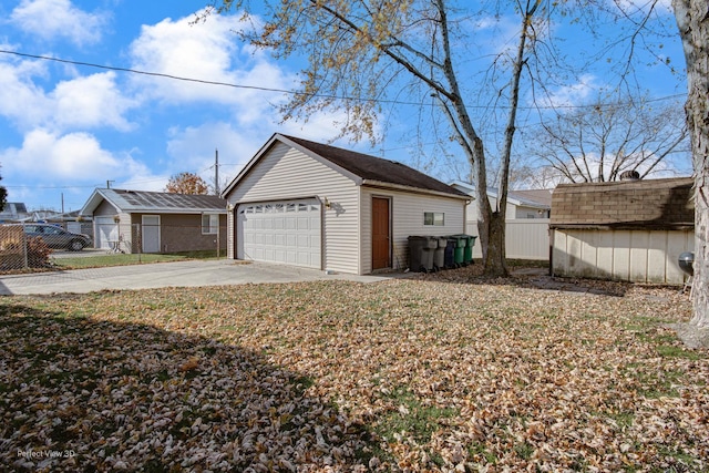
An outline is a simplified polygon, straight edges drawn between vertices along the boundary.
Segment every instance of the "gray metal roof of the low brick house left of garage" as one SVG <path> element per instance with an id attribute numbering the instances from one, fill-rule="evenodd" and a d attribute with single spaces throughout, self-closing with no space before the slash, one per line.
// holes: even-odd
<path id="1" fill-rule="evenodd" d="M 81 209 L 81 214 L 92 214 L 102 200 L 109 202 L 119 212 L 126 214 L 226 213 L 226 200 L 216 195 L 97 188 Z"/>

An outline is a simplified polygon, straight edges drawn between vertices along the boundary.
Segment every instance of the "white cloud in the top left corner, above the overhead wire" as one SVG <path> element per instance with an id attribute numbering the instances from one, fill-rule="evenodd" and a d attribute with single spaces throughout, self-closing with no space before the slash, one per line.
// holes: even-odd
<path id="1" fill-rule="evenodd" d="M 80 10 L 69 0 L 22 0 L 10 13 L 10 22 L 43 40 L 65 38 L 85 45 L 101 40 L 106 17 Z"/>

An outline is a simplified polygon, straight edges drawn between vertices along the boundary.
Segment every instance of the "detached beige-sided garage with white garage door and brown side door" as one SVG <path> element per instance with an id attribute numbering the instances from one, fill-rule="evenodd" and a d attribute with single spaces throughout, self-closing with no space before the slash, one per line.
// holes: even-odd
<path id="1" fill-rule="evenodd" d="M 275 134 L 222 194 L 229 258 L 348 274 L 408 267 L 408 237 L 461 234 L 470 199 L 403 164 Z"/>

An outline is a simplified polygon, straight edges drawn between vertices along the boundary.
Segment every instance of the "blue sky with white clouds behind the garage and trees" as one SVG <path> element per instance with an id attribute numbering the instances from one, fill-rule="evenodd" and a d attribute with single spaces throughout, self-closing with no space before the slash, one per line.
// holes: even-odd
<path id="1" fill-rule="evenodd" d="M 0 3 L 0 50 L 83 63 L 274 90 L 292 90 L 298 64 L 276 62 L 253 51 L 234 34 L 234 17 L 212 17 L 191 24 L 204 1 L 4 0 Z M 516 23 L 494 19 L 490 40 L 476 54 L 514 43 Z M 479 24 L 479 27 L 482 24 Z M 481 29 L 484 29 L 481 27 Z M 561 28 L 559 28 L 561 29 Z M 565 48 L 580 54 L 587 41 Z M 608 50 L 623 54 L 623 49 Z M 681 65 L 677 35 L 664 39 L 662 54 Z M 685 93 L 684 75 L 669 74 L 657 58 L 641 58 L 639 75 L 651 96 Z M 480 71 L 485 66 L 466 64 Z M 471 73 L 471 76 L 474 76 Z M 600 69 L 554 86 L 557 103 L 580 103 L 603 88 Z M 308 123 L 280 123 L 274 104 L 281 93 L 175 81 L 144 74 L 0 53 L 0 175 L 10 202 L 29 208 L 79 209 L 95 187 L 162 191 L 171 175 L 193 172 L 210 181 L 215 150 L 220 181 L 236 175 L 275 132 L 326 142 L 337 135 L 337 113 Z M 345 147 L 430 171 L 450 179 L 450 168 L 427 167 L 432 151 L 410 147 L 411 111 L 384 109 L 380 126 L 388 135 L 368 143 L 336 142 Z M 492 119 L 486 119 L 492 120 Z M 530 116 L 522 114 L 522 120 Z M 526 126 L 533 126 L 527 123 Z M 420 130 L 420 128 L 419 128 Z M 423 133 L 422 133 L 423 134 Z M 436 138 L 417 136 L 430 143 Z M 449 160 L 453 166 L 464 167 Z M 455 164 L 458 163 L 458 164 Z M 458 173 L 460 174 L 460 173 Z"/>

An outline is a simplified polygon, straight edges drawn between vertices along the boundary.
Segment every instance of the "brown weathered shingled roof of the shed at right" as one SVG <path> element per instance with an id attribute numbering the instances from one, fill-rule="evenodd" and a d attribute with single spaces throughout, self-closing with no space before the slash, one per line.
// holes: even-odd
<path id="1" fill-rule="evenodd" d="M 685 229 L 695 226 L 693 179 L 562 184 L 552 194 L 552 228 Z"/>

